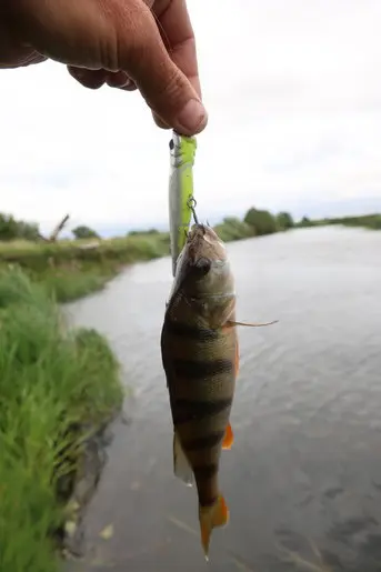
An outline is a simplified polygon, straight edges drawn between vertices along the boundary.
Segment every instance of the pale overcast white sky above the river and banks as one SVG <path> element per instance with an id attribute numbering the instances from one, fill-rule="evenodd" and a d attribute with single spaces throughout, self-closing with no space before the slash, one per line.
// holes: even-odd
<path id="1" fill-rule="evenodd" d="M 200 218 L 381 211 L 381 2 L 189 0 L 209 124 Z M 0 71 L 0 211 L 49 231 L 168 225 L 170 132 L 64 66 Z"/>

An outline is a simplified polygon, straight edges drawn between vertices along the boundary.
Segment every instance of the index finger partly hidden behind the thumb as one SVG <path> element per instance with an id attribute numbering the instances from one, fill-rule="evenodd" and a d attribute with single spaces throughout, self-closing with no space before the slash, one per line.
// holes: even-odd
<path id="1" fill-rule="evenodd" d="M 157 0 L 152 11 L 173 63 L 189 79 L 201 99 L 194 32 L 186 0 Z"/>

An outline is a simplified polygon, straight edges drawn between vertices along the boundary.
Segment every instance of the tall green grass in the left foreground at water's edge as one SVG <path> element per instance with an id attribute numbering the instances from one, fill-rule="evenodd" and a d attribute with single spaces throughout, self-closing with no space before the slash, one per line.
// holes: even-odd
<path id="1" fill-rule="evenodd" d="M 56 572 L 86 427 L 122 400 L 119 364 L 93 330 L 68 331 L 52 298 L 19 269 L 0 272 L 0 570 Z"/>

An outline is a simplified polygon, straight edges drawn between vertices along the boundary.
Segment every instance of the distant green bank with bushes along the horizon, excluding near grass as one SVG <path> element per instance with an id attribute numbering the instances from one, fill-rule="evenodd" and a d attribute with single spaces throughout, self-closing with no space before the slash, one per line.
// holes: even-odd
<path id="1" fill-rule="evenodd" d="M 73 239 L 58 239 L 69 215 L 46 239 L 38 224 L 0 213 L 0 269 L 21 268 L 58 302 L 69 302 L 101 290 L 126 265 L 169 255 L 168 232 L 131 231 L 124 237 L 101 239 L 89 227 L 73 229 Z M 290 213 L 250 209 L 244 218 L 228 217 L 214 230 L 223 242 L 323 225 L 363 227 L 381 230 L 381 214 L 294 221 Z"/>

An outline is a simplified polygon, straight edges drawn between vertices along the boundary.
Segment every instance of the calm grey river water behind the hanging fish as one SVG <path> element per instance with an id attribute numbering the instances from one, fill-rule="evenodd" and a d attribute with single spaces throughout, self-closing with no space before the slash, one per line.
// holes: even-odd
<path id="1" fill-rule="evenodd" d="M 68 308 L 108 335 L 133 389 L 71 571 L 381 570 L 381 232 L 308 229 L 228 249 L 238 319 L 279 320 L 239 332 L 234 443 L 220 468 L 230 523 L 207 564 L 195 491 L 172 473 L 159 348 L 171 267 L 136 264 Z"/>

